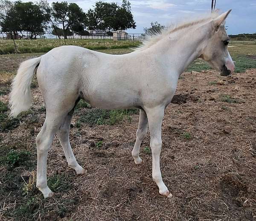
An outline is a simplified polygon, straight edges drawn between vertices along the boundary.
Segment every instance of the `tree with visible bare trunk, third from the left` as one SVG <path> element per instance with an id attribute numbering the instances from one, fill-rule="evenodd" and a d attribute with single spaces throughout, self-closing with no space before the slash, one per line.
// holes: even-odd
<path id="1" fill-rule="evenodd" d="M 62 25 L 64 38 L 67 38 L 66 29 L 73 31 L 84 30 L 86 26 L 86 15 L 76 3 L 53 2 L 52 3 L 52 22 L 53 28 L 56 29 L 59 24 Z M 80 26 L 80 27 L 79 27 Z"/>

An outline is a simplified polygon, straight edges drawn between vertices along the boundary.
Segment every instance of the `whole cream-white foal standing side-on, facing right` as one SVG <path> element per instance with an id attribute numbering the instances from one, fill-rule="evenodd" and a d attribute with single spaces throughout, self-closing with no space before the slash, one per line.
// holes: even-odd
<path id="1" fill-rule="evenodd" d="M 27 110 L 30 84 L 37 69 L 38 84 L 46 106 L 46 119 L 36 137 L 37 184 L 44 197 L 47 186 L 47 155 L 57 133 L 68 165 L 77 174 L 85 170 L 76 161 L 69 142 L 70 122 L 79 99 L 98 108 L 139 108 L 137 138 L 131 155 L 141 164 L 139 151 L 147 128 L 150 130 L 152 177 L 161 195 L 172 194 L 160 172 L 161 125 L 164 110 L 172 100 L 180 74 L 201 57 L 221 75 L 234 71 L 227 50 L 229 37 L 224 21 L 231 10 L 204 16 L 156 34 L 130 54 L 110 55 L 76 46 L 54 48 L 41 57 L 21 63 L 12 82 L 11 115 Z"/>

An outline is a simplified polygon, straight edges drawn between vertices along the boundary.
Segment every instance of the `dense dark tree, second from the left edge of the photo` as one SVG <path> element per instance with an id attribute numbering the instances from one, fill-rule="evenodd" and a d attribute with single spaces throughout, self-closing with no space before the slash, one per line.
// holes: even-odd
<path id="1" fill-rule="evenodd" d="M 44 29 L 47 28 L 49 23 L 50 14 L 44 11 L 40 4 L 16 1 L 14 6 L 19 19 L 20 30 L 26 31 L 30 39 L 44 33 Z"/>

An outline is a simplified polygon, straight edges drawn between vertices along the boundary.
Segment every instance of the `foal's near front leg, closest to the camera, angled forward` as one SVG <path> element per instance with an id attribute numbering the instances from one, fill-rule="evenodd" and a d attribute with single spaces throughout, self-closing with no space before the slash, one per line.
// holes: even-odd
<path id="1" fill-rule="evenodd" d="M 156 182 L 161 195 L 172 197 L 166 185 L 163 183 L 160 171 L 160 152 L 162 147 L 161 126 L 164 107 L 150 108 L 146 110 L 150 130 L 150 147 L 152 151 L 152 177 Z"/>

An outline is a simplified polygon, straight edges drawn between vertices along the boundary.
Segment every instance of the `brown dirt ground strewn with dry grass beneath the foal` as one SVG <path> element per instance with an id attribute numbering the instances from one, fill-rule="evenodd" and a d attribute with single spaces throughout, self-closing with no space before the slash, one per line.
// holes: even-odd
<path id="1" fill-rule="evenodd" d="M 0 86 L 8 91 L 10 76 Z M 115 125 L 77 127 L 93 108 L 78 108 L 70 143 L 83 176 L 67 167 L 58 138 L 49 151 L 47 176 L 54 198 L 35 188 L 35 137 L 45 118 L 39 88 L 32 111 L 0 132 L 1 154 L 26 150 L 26 162 L 0 164 L 0 220 L 41 221 L 253 221 L 256 220 L 256 69 L 221 77 L 186 72 L 178 82 L 162 127 L 161 170 L 172 198 L 151 178 L 149 132 L 135 165 L 131 150 L 138 114 Z M 7 103 L 8 93 L 0 100 Z M 94 109 L 93 109 L 94 110 Z"/>

